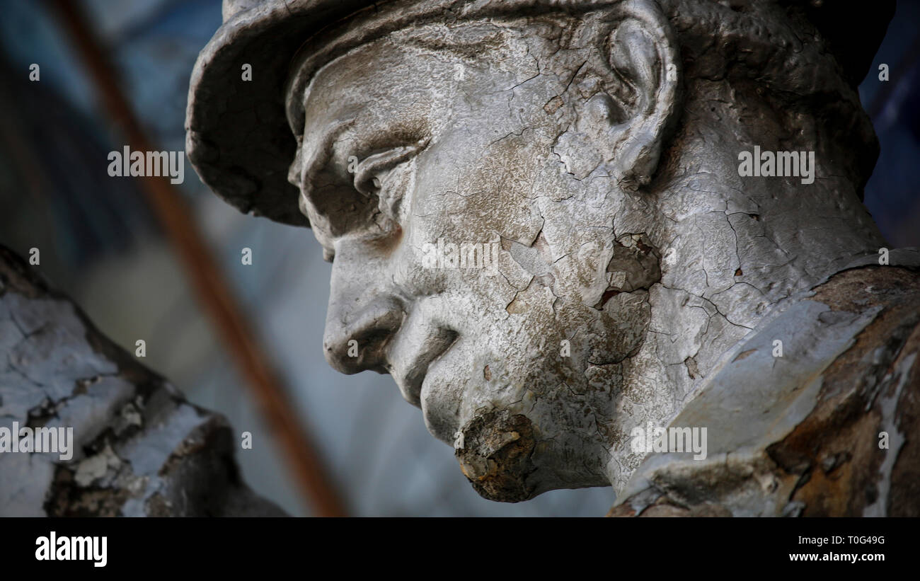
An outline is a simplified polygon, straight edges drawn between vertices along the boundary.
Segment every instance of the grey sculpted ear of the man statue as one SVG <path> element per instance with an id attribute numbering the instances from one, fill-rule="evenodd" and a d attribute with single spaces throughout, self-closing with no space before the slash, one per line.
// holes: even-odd
<path id="1" fill-rule="evenodd" d="M 655 0 L 627 0 L 595 29 L 606 90 L 588 108 L 604 131 L 595 147 L 621 187 L 650 183 L 679 112 L 680 61 L 673 29 Z M 606 63 L 603 62 L 604 58 Z"/>

